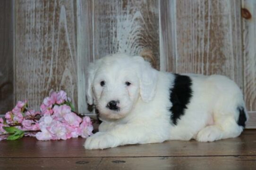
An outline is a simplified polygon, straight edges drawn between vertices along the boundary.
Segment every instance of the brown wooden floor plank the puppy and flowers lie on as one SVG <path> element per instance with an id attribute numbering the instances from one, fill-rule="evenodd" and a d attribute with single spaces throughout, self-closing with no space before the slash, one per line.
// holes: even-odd
<path id="1" fill-rule="evenodd" d="M 85 139 L 38 141 L 22 138 L 0 141 L 0 158 L 47 157 L 141 157 L 141 156 L 256 156 L 256 130 L 245 130 L 238 138 L 210 143 L 166 141 L 158 144 L 120 146 L 104 150 L 85 150 Z"/>

